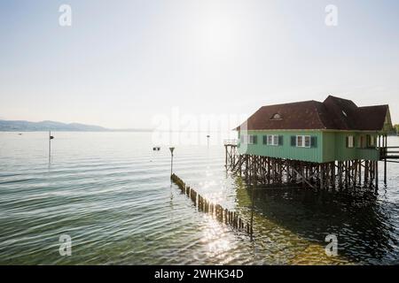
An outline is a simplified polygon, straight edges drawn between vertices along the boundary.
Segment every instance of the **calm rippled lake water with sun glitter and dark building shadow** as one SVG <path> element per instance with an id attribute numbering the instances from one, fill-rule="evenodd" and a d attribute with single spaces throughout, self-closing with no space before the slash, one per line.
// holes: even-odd
<path id="1" fill-rule="evenodd" d="M 399 164 L 378 195 L 256 191 L 250 241 L 170 184 L 170 153 L 153 151 L 152 134 L 54 135 L 49 164 L 47 133 L 0 133 L 0 264 L 399 264 Z M 176 146 L 174 172 L 249 219 L 250 191 L 225 171 L 223 150 Z M 59 255 L 61 234 L 72 256 Z"/>

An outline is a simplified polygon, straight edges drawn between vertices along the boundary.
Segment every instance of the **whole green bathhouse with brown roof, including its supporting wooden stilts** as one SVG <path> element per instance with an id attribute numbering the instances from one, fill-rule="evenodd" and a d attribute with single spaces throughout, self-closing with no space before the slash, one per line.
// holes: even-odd
<path id="1" fill-rule="evenodd" d="M 226 145 L 226 165 L 267 183 L 297 181 L 321 187 L 375 181 L 393 132 L 388 105 L 359 107 L 328 96 L 263 106 L 238 126 Z"/>

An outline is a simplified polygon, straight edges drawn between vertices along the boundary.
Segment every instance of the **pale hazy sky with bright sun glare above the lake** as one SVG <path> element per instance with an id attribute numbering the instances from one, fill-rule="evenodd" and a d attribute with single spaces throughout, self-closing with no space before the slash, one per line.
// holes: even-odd
<path id="1" fill-rule="evenodd" d="M 251 114 L 334 94 L 389 103 L 399 122 L 398 12 L 395 0 L 2 0 L 0 119 L 150 127 L 173 107 Z"/>

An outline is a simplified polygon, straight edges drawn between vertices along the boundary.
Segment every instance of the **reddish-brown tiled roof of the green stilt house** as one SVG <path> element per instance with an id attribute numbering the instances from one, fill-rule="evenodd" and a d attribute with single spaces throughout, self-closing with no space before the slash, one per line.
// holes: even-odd
<path id="1" fill-rule="evenodd" d="M 237 127 L 247 130 L 370 130 L 384 126 L 388 105 L 357 107 L 351 100 L 328 96 L 323 103 L 311 100 L 263 106 Z M 274 119 L 279 114 L 281 119 Z"/>

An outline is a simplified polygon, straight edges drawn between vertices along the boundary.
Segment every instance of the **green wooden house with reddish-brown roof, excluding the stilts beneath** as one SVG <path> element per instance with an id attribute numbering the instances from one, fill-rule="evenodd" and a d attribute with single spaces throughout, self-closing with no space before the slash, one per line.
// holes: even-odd
<path id="1" fill-rule="evenodd" d="M 328 96 L 323 103 L 263 106 L 237 130 L 240 154 L 327 163 L 379 160 L 393 126 L 388 105 L 357 107 Z"/>

